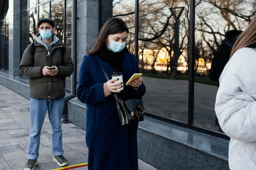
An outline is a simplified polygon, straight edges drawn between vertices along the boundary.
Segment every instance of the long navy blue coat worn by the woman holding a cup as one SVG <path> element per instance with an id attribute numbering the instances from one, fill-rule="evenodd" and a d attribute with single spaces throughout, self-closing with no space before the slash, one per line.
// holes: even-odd
<path id="1" fill-rule="evenodd" d="M 134 73 L 139 73 L 135 55 L 125 53 L 122 64 L 124 90 L 117 95 L 124 100 L 141 98 L 146 92 L 143 83 L 137 92 L 125 85 Z M 114 69 L 98 56 L 85 55 L 79 71 L 77 97 L 87 104 L 88 170 L 138 170 L 138 124 L 121 126 L 114 96 L 104 97 L 107 80 L 101 67 L 111 79 Z"/>

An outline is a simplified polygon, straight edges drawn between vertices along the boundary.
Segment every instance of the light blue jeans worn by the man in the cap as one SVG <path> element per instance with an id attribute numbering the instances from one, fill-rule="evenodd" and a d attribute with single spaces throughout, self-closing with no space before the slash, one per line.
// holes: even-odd
<path id="1" fill-rule="evenodd" d="M 30 98 L 30 134 L 27 158 L 37 159 L 39 155 L 40 135 L 48 110 L 49 120 L 52 125 L 52 154 L 63 155 L 61 115 L 63 112 L 64 97 L 57 99 Z"/>

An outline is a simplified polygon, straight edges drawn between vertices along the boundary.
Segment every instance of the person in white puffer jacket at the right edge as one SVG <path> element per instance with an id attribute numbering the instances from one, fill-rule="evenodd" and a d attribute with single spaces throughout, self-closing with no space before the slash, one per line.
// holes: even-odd
<path id="1" fill-rule="evenodd" d="M 256 170 L 256 17 L 236 40 L 220 75 L 215 111 L 229 136 L 230 170 Z"/>

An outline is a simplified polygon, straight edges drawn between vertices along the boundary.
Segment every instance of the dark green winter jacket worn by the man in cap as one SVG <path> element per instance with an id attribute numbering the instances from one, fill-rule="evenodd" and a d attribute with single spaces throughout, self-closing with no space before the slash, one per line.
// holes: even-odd
<path id="1" fill-rule="evenodd" d="M 35 99 L 55 99 L 65 97 L 65 77 L 69 77 L 74 65 L 67 47 L 58 40 L 47 51 L 45 46 L 35 41 L 34 59 L 31 54 L 31 44 L 25 49 L 20 62 L 20 73 L 29 78 L 30 97 Z M 65 46 L 65 54 L 61 55 L 61 47 Z M 57 66 L 58 75 L 44 76 L 44 66 Z"/>

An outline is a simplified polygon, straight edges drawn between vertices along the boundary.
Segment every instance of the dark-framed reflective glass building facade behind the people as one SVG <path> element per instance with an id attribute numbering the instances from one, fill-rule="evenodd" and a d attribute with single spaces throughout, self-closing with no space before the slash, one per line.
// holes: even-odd
<path id="1" fill-rule="evenodd" d="M 35 40 L 37 22 L 41 18 L 55 21 L 58 38 L 65 43 L 70 54 L 78 53 L 79 57 L 86 54 L 86 50 L 79 53 L 81 49 L 72 49 L 73 0 L 16 2 L 20 2 L 20 20 L 14 21 L 20 24 L 20 51 L 17 52 L 20 58 L 27 45 Z M 1 3 L 0 71 L 8 73 L 9 18 L 12 15 L 8 12 L 9 0 Z M 245 29 L 256 4 L 249 0 L 225 3 L 226 6 L 217 1 L 213 4 L 211 1 L 186 0 L 103 0 L 97 9 L 91 10 L 90 13 L 98 15 L 98 18 L 89 18 L 99 23 L 96 31 L 112 16 L 122 18 L 128 25 L 127 47 L 137 55 L 144 82 L 152 87 L 147 88 L 144 96 L 146 115 L 227 138 L 216 120 L 214 104 L 218 83 L 210 80 L 209 69 L 213 53 L 225 38 L 225 33 L 231 29 Z M 230 10 L 224 11 L 223 5 Z M 84 8 L 84 13 L 93 7 Z M 236 14 L 246 17 L 239 18 Z M 194 27 L 191 27 L 192 20 L 195 21 Z M 83 27 L 76 28 L 76 31 L 83 31 Z M 78 40 L 85 45 L 86 41 L 89 40 Z M 77 66 L 76 73 L 79 62 Z M 72 83 L 76 86 L 76 82 L 67 77 L 67 92 L 71 91 Z"/>

